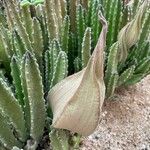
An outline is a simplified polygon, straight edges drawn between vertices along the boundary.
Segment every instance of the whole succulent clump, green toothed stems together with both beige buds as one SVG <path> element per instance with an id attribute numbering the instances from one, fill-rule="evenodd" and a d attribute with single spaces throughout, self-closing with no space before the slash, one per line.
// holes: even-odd
<path id="1" fill-rule="evenodd" d="M 42 149 L 48 134 L 54 150 L 77 148 L 104 98 L 150 73 L 148 0 L 2 4 L 0 149 Z"/>

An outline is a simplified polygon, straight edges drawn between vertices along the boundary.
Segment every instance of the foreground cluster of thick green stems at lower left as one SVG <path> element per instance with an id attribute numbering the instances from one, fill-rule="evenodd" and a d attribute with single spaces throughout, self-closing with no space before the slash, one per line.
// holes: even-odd
<path id="1" fill-rule="evenodd" d="M 21 60 L 13 56 L 10 65 L 15 89 L 5 77 L 0 79 L 0 141 L 6 148 L 12 149 L 13 146 L 21 148 L 31 138 L 36 147 L 43 136 L 46 121 L 38 64 L 34 56 L 26 52 Z"/>

